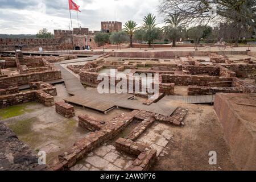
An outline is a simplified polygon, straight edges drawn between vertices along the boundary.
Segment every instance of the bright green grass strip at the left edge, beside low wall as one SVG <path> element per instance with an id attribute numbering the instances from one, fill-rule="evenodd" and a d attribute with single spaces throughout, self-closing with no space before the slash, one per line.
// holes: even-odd
<path id="1" fill-rule="evenodd" d="M 26 109 L 29 105 L 35 105 L 35 103 L 26 103 L 26 104 L 19 104 L 14 106 L 9 106 L 3 109 L 0 109 L 0 118 L 1 119 L 7 119 L 12 118 L 18 115 L 22 115 L 24 113 L 30 113 L 33 111 L 33 109 Z"/>

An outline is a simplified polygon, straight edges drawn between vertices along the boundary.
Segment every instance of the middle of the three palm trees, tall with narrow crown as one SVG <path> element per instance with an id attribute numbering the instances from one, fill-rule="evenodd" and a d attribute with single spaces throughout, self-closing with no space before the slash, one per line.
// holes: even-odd
<path id="1" fill-rule="evenodd" d="M 144 16 L 142 27 L 146 30 L 147 35 L 150 36 L 151 32 L 156 28 L 156 16 L 148 13 Z M 148 46 L 151 47 L 151 38 L 148 37 Z"/>

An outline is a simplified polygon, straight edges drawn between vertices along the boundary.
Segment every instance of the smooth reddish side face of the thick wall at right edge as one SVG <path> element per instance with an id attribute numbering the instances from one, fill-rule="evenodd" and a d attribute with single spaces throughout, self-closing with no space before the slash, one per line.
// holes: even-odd
<path id="1" fill-rule="evenodd" d="M 222 124 L 224 138 L 230 147 L 230 155 L 238 167 L 243 170 L 256 170 L 256 135 L 247 126 L 247 122 L 236 113 L 228 99 L 238 94 L 217 94 L 214 109 Z"/>

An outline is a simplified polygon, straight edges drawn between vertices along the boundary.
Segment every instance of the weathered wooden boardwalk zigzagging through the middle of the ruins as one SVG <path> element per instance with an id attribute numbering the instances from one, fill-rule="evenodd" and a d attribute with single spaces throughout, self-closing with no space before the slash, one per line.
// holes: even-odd
<path id="1" fill-rule="evenodd" d="M 97 58 L 98 56 L 93 56 L 84 61 L 91 61 Z M 134 97 L 133 94 L 100 94 L 97 89 L 86 90 L 79 78 L 61 66 L 61 64 L 76 62 L 77 60 L 69 60 L 55 64 L 61 71 L 68 93 L 72 95 L 71 97 L 64 99 L 66 102 L 82 107 L 88 107 L 104 113 L 113 108 L 121 107 L 131 110 L 146 110 L 158 114 L 171 115 L 177 109 L 177 107 L 173 106 L 161 107 L 156 103 L 151 104 L 150 106 L 143 105 L 140 101 L 131 100 L 131 98 Z"/>

